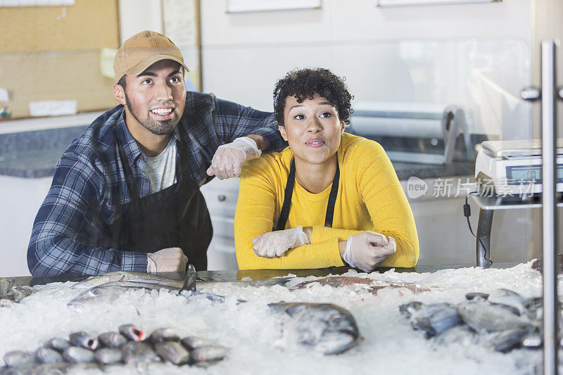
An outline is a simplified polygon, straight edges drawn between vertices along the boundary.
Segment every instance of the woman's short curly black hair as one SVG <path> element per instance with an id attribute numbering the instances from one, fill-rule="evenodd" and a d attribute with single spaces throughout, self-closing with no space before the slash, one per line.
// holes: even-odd
<path id="1" fill-rule="evenodd" d="M 293 96 L 298 103 L 312 99 L 316 94 L 327 99 L 336 108 L 340 120 L 350 124 L 350 101 L 354 98 L 348 92 L 344 79 L 324 68 L 305 68 L 291 70 L 284 78 L 276 82 L 274 88 L 274 113 L 277 123 L 284 126 L 284 108 L 286 99 Z"/>

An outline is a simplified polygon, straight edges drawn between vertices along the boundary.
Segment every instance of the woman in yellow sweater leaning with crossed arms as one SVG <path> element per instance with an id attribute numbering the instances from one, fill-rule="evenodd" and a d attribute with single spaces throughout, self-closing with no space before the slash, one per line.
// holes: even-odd
<path id="1" fill-rule="evenodd" d="M 326 69 L 277 82 L 274 112 L 289 147 L 243 166 L 240 269 L 416 265 L 415 220 L 391 161 L 377 142 L 344 133 L 351 99 Z"/>

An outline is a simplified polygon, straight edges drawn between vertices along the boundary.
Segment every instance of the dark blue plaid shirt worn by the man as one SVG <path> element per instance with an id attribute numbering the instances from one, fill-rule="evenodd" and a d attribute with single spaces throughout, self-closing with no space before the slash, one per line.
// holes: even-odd
<path id="1" fill-rule="evenodd" d="M 264 137 L 268 151 L 284 147 L 272 113 L 222 101 L 213 94 L 187 93 L 184 114 L 173 136 L 178 137 L 179 132 L 186 140 L 191 177 L 200 186 L 211 179 L 206 170 L 217 147 L 239 136 Z M 131 201 L 120 167 L 117 137 L 127 155 L 139 196 L 150 193 L 144 172 L 146 157 L 125 125 L 123 106 L 117 106 L 98 117 L 58 160 L 27 248 L 27 266 L 34 277 L 117 270 L 146 272 L 146 253 L 96 248 L 76 241 L 84 224 L 111 224 L 122 205 Z"/>

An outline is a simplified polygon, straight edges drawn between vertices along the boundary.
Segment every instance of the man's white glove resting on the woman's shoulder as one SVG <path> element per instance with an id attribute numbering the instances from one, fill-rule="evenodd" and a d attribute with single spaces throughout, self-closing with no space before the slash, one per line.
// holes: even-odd
<path id="1" fill-rule="evenodd" d="M 259 158 L 261 154 L 262 151 L 258 149 L 253 139 L 248 138 L 248 136 L 241 136 L 230 144 L 223 144 L 217 148 L 207 174 L 210 176 L 215 174 L 218 179 L 239 176 L 242 163 Z"/>

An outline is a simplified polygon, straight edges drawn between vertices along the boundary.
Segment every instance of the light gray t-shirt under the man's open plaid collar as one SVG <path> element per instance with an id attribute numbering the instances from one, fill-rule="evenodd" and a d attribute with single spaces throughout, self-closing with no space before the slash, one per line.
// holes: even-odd
<path id="1" fill-rule="evenodd" d="M 146 158 L 145 173 L 151 181 L 151 194 L 176 182 L 176 142 L 172 137 L 166 148 L 153 158 Z"/>

